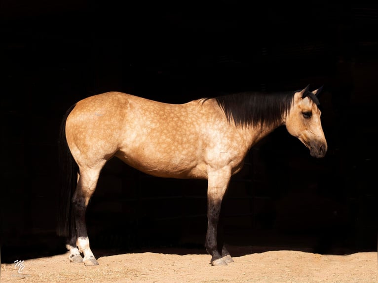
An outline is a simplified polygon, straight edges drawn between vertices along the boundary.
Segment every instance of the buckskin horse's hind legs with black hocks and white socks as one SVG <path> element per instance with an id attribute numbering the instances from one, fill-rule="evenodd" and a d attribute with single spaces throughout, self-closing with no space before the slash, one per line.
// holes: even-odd
<path id="1" fill-rule="evenodd" d="M 80 168 L 80 177 L 72 199 L 76 222 L 76 236 L 71 239 L 71 247 L 69 247 L 71 262 L 80 262 L 80 258 L 77 256 L 78 251 L 84 255 L 82 262 L 85 265 L 99 264 L 89 246 L 89 238 L 85 224 L 85 212 L 89 200 L 96 189 L 101 168 Z M 75 240 L 76 243 L 74 243 Z"/>

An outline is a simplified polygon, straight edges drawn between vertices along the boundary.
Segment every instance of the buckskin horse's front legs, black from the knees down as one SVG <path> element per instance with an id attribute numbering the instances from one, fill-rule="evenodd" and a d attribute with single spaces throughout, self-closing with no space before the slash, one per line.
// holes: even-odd
<path id="1" fill-rule="evenodd" d="M 228 171 L 216 171 L 208 175 L 207 189 L 207 233 L 205 248 L 212 256 L 210 263 L 212 265 L 227 265 L 227 262 L 233 262 L 226 247 L 218 250 L 217 230 L 218 222 L 222 207 L 222 200 L 227 191 L 230 174 Z"/>

